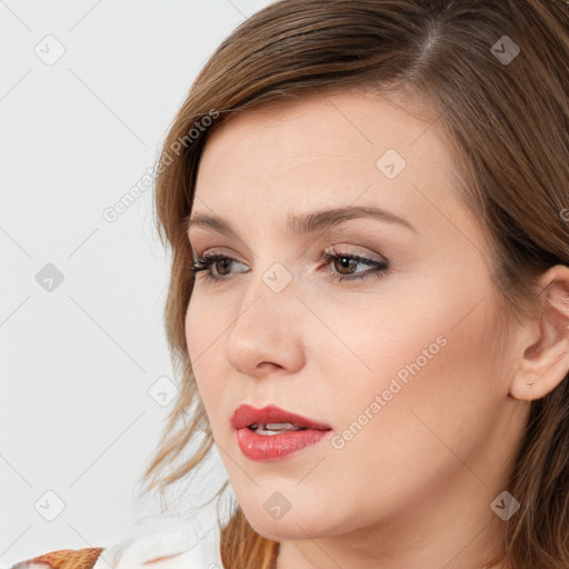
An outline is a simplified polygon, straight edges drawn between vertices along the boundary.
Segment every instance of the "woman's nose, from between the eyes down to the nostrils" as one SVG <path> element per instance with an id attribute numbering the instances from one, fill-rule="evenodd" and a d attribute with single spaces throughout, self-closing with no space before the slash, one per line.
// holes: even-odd
<path id="1" fill-rule="evenodd" d="M 282 268 L 251 274 L 236 321 L 226 335 L 227 359 L 246 376 L 262 378 L 277 370 L 291 373 L 303 365 L 303 307 L 295 279 L 280 290 L 284 278 L 290 280 Z"/>

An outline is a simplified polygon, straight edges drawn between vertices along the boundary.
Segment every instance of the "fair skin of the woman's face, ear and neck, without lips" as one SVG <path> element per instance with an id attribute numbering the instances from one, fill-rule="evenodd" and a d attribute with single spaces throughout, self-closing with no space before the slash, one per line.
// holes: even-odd
<path id="1" fill-rule="evenodd" d="M 192 214 L 223 217 L 239 238 L 190 228 L 196 253 L 237 261 L 210 268 L 224 281 L 197 274 L 188 350 L 236 497 L 256 531 L 281 543 L 279 569 L 478 569 L 498 557 L 505 522 L 490 505 L 529 401 L 569 368 L 567 305 L 549 333 L 531 320 L 499 348 L 491 251 L 456 199 L 448 148 L 435 124 L 392 101 L 343 92 L 266 104 L 213 132 L 200 161 Z M 390 148 L 407 161 L 393 179 L 376 166 Z M 284 231 L 289 214 L 370 204 L 415 231 L 365 218 Z M 320 260 L 331 248 L 387 259 L 390 270 L 338 282 L 375 268 Z M 291 278 L 280 292 L 263 280 L 276 262 Z M 563 298 L 569 278 L 556 271 L 543 283 L 557 277 L 550 290 Z M 445 346 L 342 448 L 326 440 L 272 462 L 241 453 L 229 422 L 239 405 L 277 405 L 339 436 L 440 337 Z M 291 506 L 280 519 L 263 508 L 277 491 Z"/>

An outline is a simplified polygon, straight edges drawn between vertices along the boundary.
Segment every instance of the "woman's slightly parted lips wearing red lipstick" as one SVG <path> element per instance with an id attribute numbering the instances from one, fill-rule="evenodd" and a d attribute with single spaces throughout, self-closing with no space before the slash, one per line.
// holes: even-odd
<path id="1" fill-rule="evenodd" d="M 331 432 L 329 425 L 274 406 L 239 406 L 231 416 L 241 452 L 251 460 L 278 460 L 316 445 Z"/>

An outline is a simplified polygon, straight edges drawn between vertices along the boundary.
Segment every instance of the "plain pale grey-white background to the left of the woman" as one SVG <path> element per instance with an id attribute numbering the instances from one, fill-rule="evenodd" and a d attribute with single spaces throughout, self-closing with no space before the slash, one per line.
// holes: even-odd
<path id="1" fill-rule="evenodd" d="M 207 58 L 269 3 L 0 1 L 0 567 L 176 523 L 133 501 L 176 395 L 142 180 Z"/>

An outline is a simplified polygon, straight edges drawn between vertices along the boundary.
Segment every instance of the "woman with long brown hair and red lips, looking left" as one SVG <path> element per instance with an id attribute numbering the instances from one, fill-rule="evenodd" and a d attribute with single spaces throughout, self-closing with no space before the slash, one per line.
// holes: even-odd
<path id="1" fill-rule="evenodd" d="M 144 479 L 214 445 L 238 506 L 113 567 L 569 568 L 568 64 L 563 0 L 283 0 L 222 42 L 157 170 Z"/>

